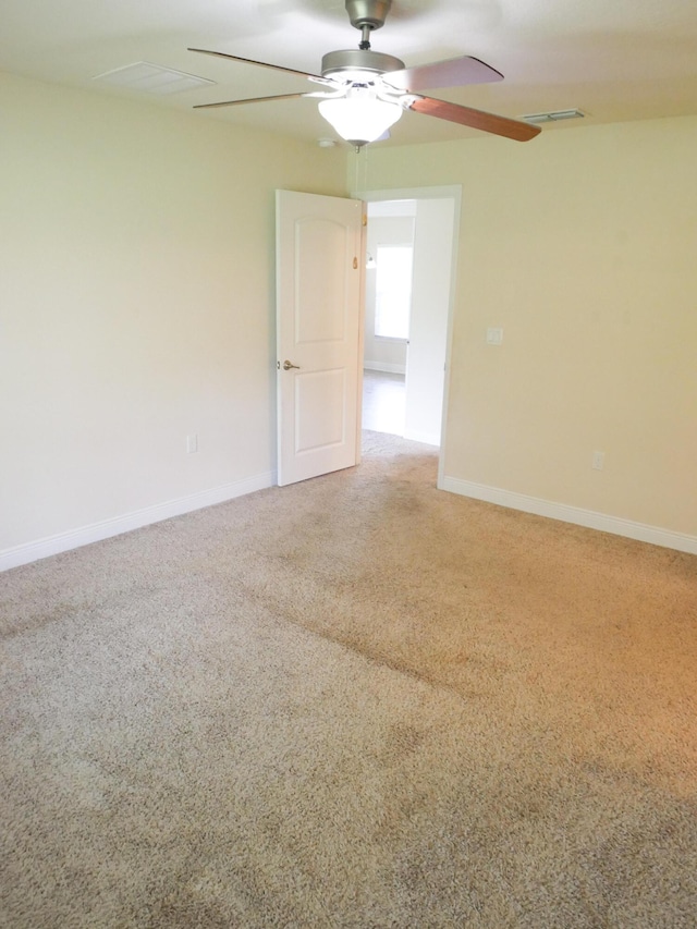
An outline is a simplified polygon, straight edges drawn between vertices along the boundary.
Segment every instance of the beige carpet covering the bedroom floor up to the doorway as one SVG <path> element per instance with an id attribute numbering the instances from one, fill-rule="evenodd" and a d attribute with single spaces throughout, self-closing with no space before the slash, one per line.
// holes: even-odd
<path id="1" fill-rule="evenodd" d="M 0 576 L 2 927 L 697 926 L 697 559 L 367 445 Z"/>

